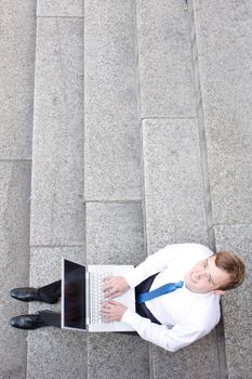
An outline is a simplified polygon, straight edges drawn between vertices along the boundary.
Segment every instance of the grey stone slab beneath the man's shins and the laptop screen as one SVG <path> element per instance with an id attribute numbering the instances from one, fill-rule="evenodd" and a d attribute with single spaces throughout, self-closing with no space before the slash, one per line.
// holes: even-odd
<path id="1" fill-rule="evenodd" d="M 31 248 L 30 285 L 44 286 L 61 278 L 62 257 L 75 262 L 85 262 L 83 247 Z M 29 303 L 29 313 L 40 310 L 61 311 L 57 304 Z M 31 378 L 85 378 L 87 335 L 53 327 L 29 331 L 27 379 Z"/>

